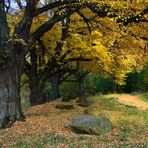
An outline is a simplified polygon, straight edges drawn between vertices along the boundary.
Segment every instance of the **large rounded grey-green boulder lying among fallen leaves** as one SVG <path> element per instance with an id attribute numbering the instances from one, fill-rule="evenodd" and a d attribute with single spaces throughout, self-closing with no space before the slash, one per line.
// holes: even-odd
<path id="1" fill-rule="evenodd" d="M 76 133 L 91 135 L 105 135 L 112 131 L 111 121 L 104 116 L 77 116 L 72 119 L 70 127 Z"/>

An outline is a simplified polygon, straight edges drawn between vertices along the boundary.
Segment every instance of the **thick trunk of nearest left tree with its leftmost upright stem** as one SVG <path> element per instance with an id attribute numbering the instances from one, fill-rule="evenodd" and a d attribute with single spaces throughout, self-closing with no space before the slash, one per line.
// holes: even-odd
<path id="1" fill-rule="evenodd" d="M 10 126 L 22 115 L 20 108 L 20 57 L 9 40 L 4 1 L 0 1 L 0 127 Z"/>

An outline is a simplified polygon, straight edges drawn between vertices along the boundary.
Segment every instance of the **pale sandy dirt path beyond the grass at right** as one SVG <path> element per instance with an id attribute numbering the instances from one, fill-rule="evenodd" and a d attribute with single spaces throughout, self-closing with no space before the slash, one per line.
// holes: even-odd
<path id="1" fill-rule="evenodd" d="M 139 97 L 140 95 L 128 95 L 128 94 L 111 94 L 109 97 L 117 97 L 118 102 L 123 103 L 125 105 L 136 106 L 142 110 L 148 110 L 148 103 L 142 101 Z"/>

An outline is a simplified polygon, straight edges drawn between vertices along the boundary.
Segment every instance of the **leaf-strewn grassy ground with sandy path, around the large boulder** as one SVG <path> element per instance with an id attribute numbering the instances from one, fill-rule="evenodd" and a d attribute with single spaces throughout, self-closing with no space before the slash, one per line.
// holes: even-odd
<path id="1" fill-rule="evenodd" d="M 93 96 L 92 106 L 84 108 L 76 100 L 61 99 L 25 110 L 25 122 L 0 130 L 0 147 L 4 148 L 105 148 L 148 147 L 148 102 L 139 95 L 111 94 Z M 55 108 L 72 104 L 73 110 Z M 75 134 L 68 124 L 82 114 L 104 115 L 113 123 L 113 131 L 105 136 Z"/>

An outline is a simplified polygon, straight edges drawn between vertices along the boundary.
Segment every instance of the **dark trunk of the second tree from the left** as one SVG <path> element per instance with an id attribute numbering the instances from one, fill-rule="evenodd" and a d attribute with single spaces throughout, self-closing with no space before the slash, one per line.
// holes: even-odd
<path id="1" fill-rule="evenodd" d="M 28 65 L 26 61 L 26 74 L 29 77 L 29 88 L 30 95 L 29 101 L 30 105 L 38 105 L 45 103 L 45 93 L 44 93 L 44 81 L 41 80 L 40 70 L 38 70 L 38 55 L 36 53 L 36 48 L 34 47 L 30 50 L 31 64 Z M 28 68 L 28 69 L 27 69 Z"/>

